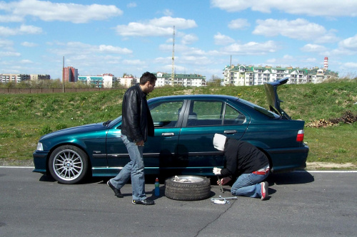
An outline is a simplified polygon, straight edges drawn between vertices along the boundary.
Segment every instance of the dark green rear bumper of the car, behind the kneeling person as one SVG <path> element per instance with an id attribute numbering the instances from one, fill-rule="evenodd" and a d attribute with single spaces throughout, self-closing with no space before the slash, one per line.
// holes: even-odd
<path id="1" fill-rule="evenodd" d="M 306 168 L 306 159 L 308 157 L 308 146 L 281 148 L 281 149 L 267 149 L 272 168 L 271 172 L 289 172 L 294 169 Z"/>

